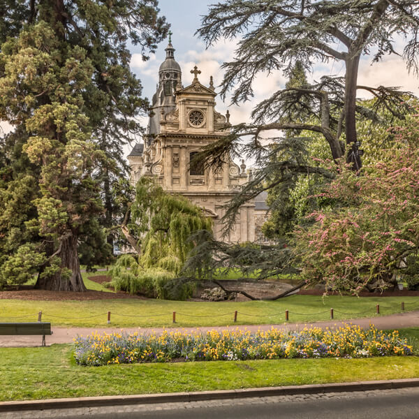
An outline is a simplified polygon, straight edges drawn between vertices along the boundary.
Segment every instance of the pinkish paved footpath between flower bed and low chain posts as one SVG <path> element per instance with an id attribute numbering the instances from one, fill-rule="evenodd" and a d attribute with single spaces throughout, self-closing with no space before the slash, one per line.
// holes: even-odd
<path id="1" fill-rule="evenodd" d="M 199 330 L 206 332 L 207 330 L 234 330 L 239 328 L 241 330 L 253 330 L 258 329 L 268 330 L 270 328 L 284 329 L 284 330 L 301 330 L 306 326 L 316 326 L 319 328 L 335 328 L 344 324 L 360 325 L 362 328 L 368 328 L 369 325 L 373 324 L 378 329 L 400 329 L 400 328 L 413 328 L 419 327 L 419 311 L 410 311 L 409 313 L 391 314 L 390 316 L 376 316 L 372 318 L 354 318 L 352 320 L 345 321 L 321 321 L 314 323 L 281 323 L 277 325 L 237 325 L 237 326 L 221 326 L 212 328 L 199 328 Z M 90 335 L 92 332 L 98 333 L 110 333 L 110 332 L 124 332 L 133 333 L 161 333 L 167 328 L 59 328 L 52 327 L 54 332 L 52 336 L 47 336 L 47 345 L 50 344 L 68 344 L 73 341 L 73 338 L 78 335 Z M 197 328 L 178 328 L 178 330 L 192 331 Z M 0 347 L 1 346 L 40 346 L 40 336 L 0 336 Z"/>

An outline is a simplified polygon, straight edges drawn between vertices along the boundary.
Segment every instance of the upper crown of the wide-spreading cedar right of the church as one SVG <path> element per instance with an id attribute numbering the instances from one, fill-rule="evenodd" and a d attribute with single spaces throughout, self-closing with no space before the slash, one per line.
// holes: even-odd
<path id="1" fill-rule="evenodd" d="M 305 129 L 321 133 L 332 159 L 339 159 L 347 150 L 347 160 L 359 169 L 357 116 L 376 120 L 375 111 L 385 107 L 402 117 L 406 110 L 397 88 L 360 86 L 358 69 L 363 55 L 379 61 L 385 54 L 397 53 L 393 41 L 401 36 L 406 40 L 406 65 L 418 74 L 417 1 L 226 0 L 210 6 L 202 22 L 197 33 L 207 45 L 220 38 L 239 39 L 233 61 L 223 64 L 226 74 L 221 84 L 221 96 L 233 90 L 235 104 L 253 97 L 253 81 L 262 72 L 289 75 L 298 61 L 305 68 L 318 61 L 339 62 L 345 68 L 344 77 L 325 75 L 307 86 L 275 91 L 256 105 L 251 124 L 236 126 L 230 141 L 214 147 L 215 158 L 237 147 L 235 139 L 240 135 L 253 137 L 253 147 L 245 151 L 254 154 L 264 131 Z M 378 98 L 376 109 L 366 110 L 357 103 L 360 89 Z M 290 120 L 289 115 L 301 117 Z"/>

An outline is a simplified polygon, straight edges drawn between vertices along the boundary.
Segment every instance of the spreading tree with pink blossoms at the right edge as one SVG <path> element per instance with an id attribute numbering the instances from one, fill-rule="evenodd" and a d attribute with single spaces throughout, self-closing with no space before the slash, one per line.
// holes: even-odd
<path id="1" fill-rule="evenodd" d="M 419 117 L 395 129 L 391 159 L 355 173 L 348 166 L 325 190 L 336 205 L 296 230 L 306 281 L 331 291 L 381 291 L 416 260 L 419 246 Z M 388 157 L 387 156 L 387 157 Z M 416 263 L 416 262 L 413 262 Z"/>

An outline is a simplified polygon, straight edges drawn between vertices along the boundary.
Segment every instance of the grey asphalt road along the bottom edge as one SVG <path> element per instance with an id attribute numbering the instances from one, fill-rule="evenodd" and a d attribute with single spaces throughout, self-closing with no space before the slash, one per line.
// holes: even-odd
<path id="1" fill-rule="evenodd" d="M 419 388 L 1 413 L 1 419 L 418 419 Z"/>

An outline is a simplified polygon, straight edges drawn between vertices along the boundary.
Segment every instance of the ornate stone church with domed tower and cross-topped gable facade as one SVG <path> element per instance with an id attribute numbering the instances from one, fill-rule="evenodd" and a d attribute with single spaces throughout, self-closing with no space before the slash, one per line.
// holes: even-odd
<path id="1" fill-rule="evenodd" d="M 219 170 L 207 170 L 190 164 L 193 156 L 205 145 L 228 135 L 229 113 L 215 109 L 214 84 L 208 86 L 198 79 L 195 66 L 190 86 L 182 86 L 182 71 L 175 61 L 175 49 L 169 39 L 166 59 L 159 69 L 159 84 L 152 98 L 152 114 L 143 142 L 135 145 L 128 156 L 131 179 L 153 176 L 169 193 L 185 196 L 202 207 L 214 221 L 214 236 L 228 242 L 254 242 L 255 203 L 250 200 L 238 214 L 228 237 L 221 237 L 224 205 L 248 180 L 244 162 L 238 166 L 228 161 Z"/>

